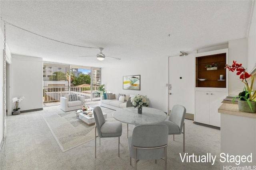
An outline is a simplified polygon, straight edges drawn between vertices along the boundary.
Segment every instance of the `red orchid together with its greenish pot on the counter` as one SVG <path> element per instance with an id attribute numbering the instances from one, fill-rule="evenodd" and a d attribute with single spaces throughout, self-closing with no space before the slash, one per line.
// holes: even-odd
<path id="1" fill-rule="evenodd" d="M 233 61 L 233 64 L 230 66 L 226 64 L 226 67 L 229 71 L 236 72 L 236 75 L 240 75 L 241 81 L 244 83 L 244 90 L 238 94 L 238 96 L 235 96 L 232 100 L 234 103 L 234 100 L 236 98 L 239 98 L 238 100 L 238 109 L 239 111 L 245 111 L 245 112 L 251 112 L 256 113 L 256 90 L 253 90 L 253 82 L 254 82 L 254 76 L 246 72 L 246 69 L 242 66 L 242 64 L 236 63 L 236 61 Z M 250 85 L 249 80 L 250 78 Z"/>

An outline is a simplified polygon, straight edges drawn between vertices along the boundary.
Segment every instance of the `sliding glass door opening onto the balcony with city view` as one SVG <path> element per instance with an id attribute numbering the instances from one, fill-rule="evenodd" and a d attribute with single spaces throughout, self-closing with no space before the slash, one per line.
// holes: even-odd
<path id="1" fill-rule="evenodd" d="M 78 94 L 87 101 L 100 100 L 100 68 L 44 62 L 44 106 L 58 105 L 65 94 Z"/>

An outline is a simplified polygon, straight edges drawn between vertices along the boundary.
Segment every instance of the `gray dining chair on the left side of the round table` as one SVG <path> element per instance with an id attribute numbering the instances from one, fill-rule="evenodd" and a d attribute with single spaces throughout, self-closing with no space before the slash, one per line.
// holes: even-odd
<path id="1" fill-rule="evenodd" d="M 96 129 L 99 138 L 118 137 L 118 157 L 120 157 L 120 136 L 122 135 L 122 123 L 118 121 L 105 121 L 102 110 L 99 106 L 93 110 L 95 119 L 95 158 L 96 158 Z"/>

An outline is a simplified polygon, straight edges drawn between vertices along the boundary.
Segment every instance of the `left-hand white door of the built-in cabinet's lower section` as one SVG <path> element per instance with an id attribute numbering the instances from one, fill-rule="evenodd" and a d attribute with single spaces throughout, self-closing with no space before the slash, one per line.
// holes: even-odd
<path id="1" fill-rule="evenodd" d="M 196 113 L 195 121 L 209 125 L 210 92 L 196 91 Z"/>

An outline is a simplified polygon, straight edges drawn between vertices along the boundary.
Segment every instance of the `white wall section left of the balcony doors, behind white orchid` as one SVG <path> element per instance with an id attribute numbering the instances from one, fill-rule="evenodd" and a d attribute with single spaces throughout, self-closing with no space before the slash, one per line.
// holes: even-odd
<path id="1" fill-rule="evenodd" d="M 25 96 L 19 104 L 20 111 L 43 108 L 42 58 L 12 55 L 11 90 L 12 98 Z"/>

